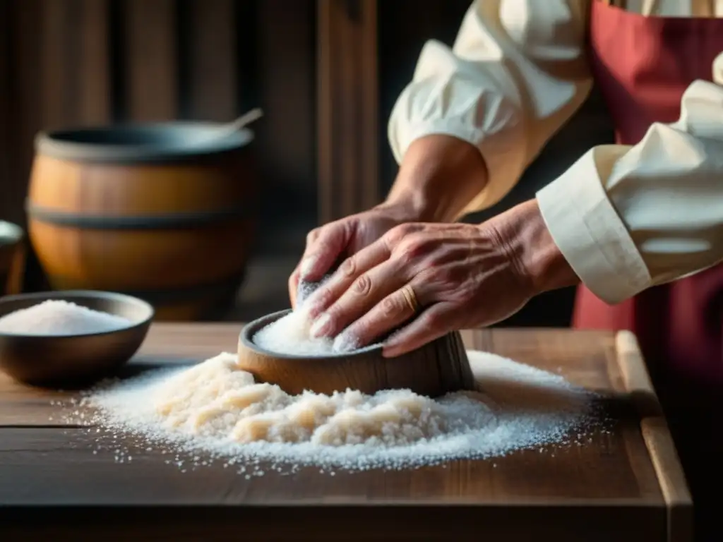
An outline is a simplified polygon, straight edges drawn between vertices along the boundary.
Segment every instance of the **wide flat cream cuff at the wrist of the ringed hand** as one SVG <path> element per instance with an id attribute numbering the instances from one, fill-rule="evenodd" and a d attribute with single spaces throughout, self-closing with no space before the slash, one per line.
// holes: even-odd
<path id="1" fill-rule="evenodd" d="M 553 241 L 576 275 L 602 301 L 616 304 L 648 288 L 651 276 L 605 193 L 596 152 L 586 152 L 537 192 L 537 202 Z"/>

